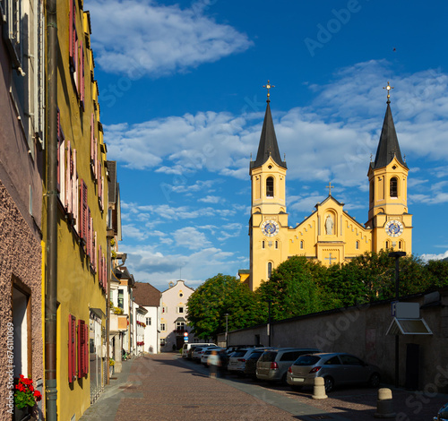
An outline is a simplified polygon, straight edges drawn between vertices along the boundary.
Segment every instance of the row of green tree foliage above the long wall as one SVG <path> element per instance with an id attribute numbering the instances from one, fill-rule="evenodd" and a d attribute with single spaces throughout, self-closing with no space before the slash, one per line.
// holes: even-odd
<path id="1" fill-rule="evenodd" d="M 218 274 L 207 279 L 188 299 L 188 319 L 196 336 L 216 338 L 218 333 L 302 314 L 350 305 L 362 305 L 395 296 L 395 259 L 391 250 L 364 253 L 346 264 L 330 267 L 294 256 L 282 262 L 271 279 L 252 292 L 237 278 Z M 423 262 L 401 257 L 400 296 L 448 286 L 448 262 Z"/>

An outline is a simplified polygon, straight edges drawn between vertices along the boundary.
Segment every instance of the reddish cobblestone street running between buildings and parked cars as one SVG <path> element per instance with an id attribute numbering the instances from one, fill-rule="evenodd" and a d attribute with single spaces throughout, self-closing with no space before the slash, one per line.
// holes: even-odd
<path id="1" fill-rule="evenodd" d="M 311 391 L 297 393 L 235 376 L 211 379 L 205 367 L 176 354 L 135 358 L 123 368 L 82 421 L 375 419 L 373 389 L 336 390 L 326 400 L 313 400 Z M 430 420 L 448 401 L 446 395 L 428 398 L 401 390 L 393 397 L 401 421 Z"/>

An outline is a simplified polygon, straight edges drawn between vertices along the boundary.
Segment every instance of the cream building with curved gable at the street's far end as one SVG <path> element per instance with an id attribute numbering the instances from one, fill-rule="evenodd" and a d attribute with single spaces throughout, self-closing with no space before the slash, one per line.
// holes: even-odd
<path id="1" fill-rule="evenodd" d="M 160 351 L 176 351 L 184 346 L 185 333 L 188 342 L 194 342 L 187 325 L 186 302 L 194 293 L 193 288 L 185 285 L 183 280 L 169 282 L 169 288 L 162 291 L 160 297 Z"/>

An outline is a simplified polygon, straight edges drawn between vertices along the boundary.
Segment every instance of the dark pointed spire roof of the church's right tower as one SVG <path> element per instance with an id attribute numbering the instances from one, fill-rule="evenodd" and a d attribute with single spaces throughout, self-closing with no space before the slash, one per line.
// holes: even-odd
<path id="1" fill-rule="evenodd" d="M 400 145 L 398 143 L 395 125 L 393 124 L 390 101 L 387 101 L 386 114 L 384 116 L 383 129 L 380 142 L 376 150 L 375 162 L 371 163 L 372 169 L 386 167 L 396 157 L 404 167 L 408 168 L 406 162 L 401 158 Z"/>

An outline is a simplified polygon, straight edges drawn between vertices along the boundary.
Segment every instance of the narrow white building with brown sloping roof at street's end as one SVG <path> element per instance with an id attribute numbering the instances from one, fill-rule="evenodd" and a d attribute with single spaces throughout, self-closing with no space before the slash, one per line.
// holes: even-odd
<path id="1" fill-rule="evenodd" d="M 143 352 L 157 354 L 160 352 L 159 348 L 159 305 L 160 305 L 160 291 L 152 287 L 147 282 L 135 282 L 134 302 L 144 308 L 147 313 L 144 314 L 144 345 Z"/>

